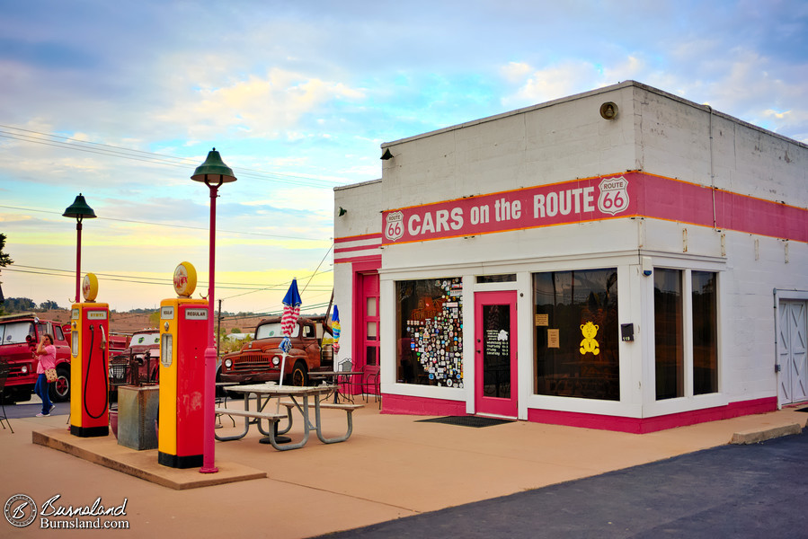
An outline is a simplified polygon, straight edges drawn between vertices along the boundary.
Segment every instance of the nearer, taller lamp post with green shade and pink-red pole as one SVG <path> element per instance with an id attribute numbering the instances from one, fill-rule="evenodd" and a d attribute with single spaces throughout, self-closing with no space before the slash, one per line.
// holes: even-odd
<path id="1" fill-rule="evenodd" d="M 200 164 L 191 176 L 193 181 L 201 181 L 210 190 L 210 248 L 208 254 L 208 347 L 205 349 L 205 392 L 202 397 L 202 467 L 200 473 L 217 473 L 214 448 L 214 400 L 216 393 L 216 343 L 213 336 L 213 300 L 214 273 L 216 270 L 216 199 L 218 188 L 223 183 L 235 181 L 233 171 L 223 161 L 221 155 L 213 148 L 208 153 L 205 163 Z"/>

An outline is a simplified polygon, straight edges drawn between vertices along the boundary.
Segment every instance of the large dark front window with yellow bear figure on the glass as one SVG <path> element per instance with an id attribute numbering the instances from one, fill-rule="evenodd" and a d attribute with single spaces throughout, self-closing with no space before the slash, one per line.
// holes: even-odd
<path id="1" fill-rule="evenodd" d="M 617 269 L 537 273 L 534 391 L 620 400 Z"/>

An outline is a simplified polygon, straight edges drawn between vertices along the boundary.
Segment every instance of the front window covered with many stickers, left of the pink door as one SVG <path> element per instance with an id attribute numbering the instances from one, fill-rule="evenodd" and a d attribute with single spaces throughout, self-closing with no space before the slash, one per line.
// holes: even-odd
<path id="1" fill-rule="evenodd" d="M 463 387 L 461 279 L 398 281 L 395 287 L 398 382 Z"/>

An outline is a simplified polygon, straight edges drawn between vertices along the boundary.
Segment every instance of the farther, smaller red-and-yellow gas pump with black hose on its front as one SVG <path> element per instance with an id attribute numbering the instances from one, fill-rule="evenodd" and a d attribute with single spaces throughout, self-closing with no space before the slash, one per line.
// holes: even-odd
<path id="1" fill-rule="evenodd" d="M 98 278 L 92 273 L 82 283 L 84 303 L 70 314 L 70 434 L 78 437 L 110 434 L 109 346 L 110 306 L 95 303 Z"/>

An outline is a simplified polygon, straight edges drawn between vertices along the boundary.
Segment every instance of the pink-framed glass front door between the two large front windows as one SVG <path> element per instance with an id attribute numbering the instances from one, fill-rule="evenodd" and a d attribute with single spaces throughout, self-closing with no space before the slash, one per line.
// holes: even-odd
<path id="1" fill-rule="evenodd" d="M 516 292 L 475 294 L 475 410 L 518 414 Z"/>

